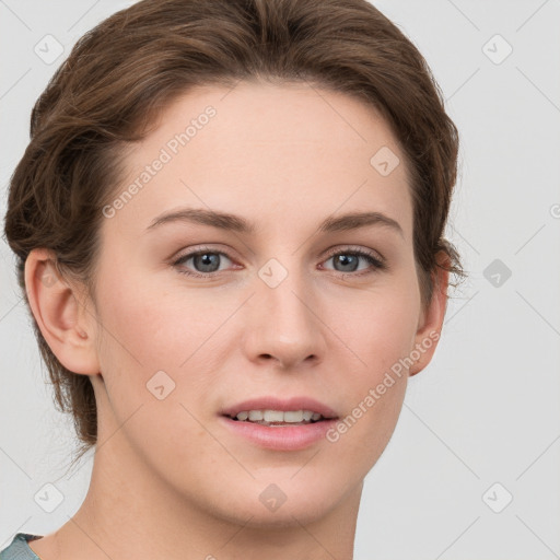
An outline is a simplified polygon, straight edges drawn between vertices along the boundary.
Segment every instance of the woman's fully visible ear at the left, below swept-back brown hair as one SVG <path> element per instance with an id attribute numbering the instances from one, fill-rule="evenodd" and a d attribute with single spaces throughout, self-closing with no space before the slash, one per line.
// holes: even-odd
<path id="1" fill-rule="evenodd" d="M 79 287 L 58 271 L 56 255 L 33 249 L 25 260 L 25 290 L 30 307 L 48 346 L 69 371 L 100 372 L 95 348 L 95 317 L 85 310 Z"/>

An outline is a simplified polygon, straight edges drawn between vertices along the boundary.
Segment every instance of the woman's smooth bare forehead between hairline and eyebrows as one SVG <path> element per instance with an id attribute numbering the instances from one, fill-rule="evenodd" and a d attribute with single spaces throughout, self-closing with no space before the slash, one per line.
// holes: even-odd
<path id="1" fill-rule="evenodd" d="M 162 112 L 126 167 L 117 196 L 137 188 L 112 221 L 127 230 L 188 206 L 283 229 L 380 211 L 411 234 L 407 170 L 388 125 L 363 102 L 306 83 L 190 90 Z"/>

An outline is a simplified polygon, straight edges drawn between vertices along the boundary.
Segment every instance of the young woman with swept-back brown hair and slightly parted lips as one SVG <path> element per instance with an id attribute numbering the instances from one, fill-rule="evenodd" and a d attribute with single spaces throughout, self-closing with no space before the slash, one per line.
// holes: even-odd
<path id="1" fill-rule="evenodd" d="M 32 114 L 5 234 L 88 495 L 2 560 L 351 559 L 459 258 L 457 130 L 363 0 L 144 0 Z"/>

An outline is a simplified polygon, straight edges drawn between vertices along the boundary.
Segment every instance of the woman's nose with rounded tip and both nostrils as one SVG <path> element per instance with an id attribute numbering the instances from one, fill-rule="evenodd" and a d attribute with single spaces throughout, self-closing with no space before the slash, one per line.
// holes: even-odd
<path id="1" fill-rule="evenodd" d="M 256 279 L 245 310 L 244 351 L 253 362 L 275 362 L 283 370 L 323 361 L 327 342 L 318 298 L 301 275 L 291 272 L 272 288 Z"/>

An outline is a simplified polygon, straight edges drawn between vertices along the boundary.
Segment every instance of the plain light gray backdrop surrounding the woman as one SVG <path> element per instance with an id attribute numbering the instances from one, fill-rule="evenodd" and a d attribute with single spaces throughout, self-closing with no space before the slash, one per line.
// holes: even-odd
<path id="1" fill-rule="evenodd" d="M 0 0 L 2 215 L 35 100 L 85 31 L 131 3 Z M 560 558 L 560 2 L 374 4 L 425 56 L 459 128 L 448 237 L 470 278 L 366 478 L 355 560 Z M 47 34 L 65 48 L 51 65 L 34 52 Z M 66 523 L 92 460 L 67 475 L 71 424 L 51 404 L 3 240 L 0 257 L 3 548 Z M 499 285 L 494 259 L 512 272 Z M 65 498 L 52 513 L 34 499 L 46 483 Z"/>

